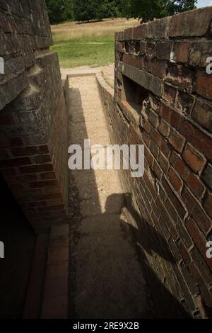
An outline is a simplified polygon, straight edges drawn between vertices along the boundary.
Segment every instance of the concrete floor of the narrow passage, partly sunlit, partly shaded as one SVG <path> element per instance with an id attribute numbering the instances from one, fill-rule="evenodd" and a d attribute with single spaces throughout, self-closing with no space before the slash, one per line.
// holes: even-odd
<path id="1" fill-rule="evenodd" d="M 95 76 L 69 79 L 69 145 L 110 144 Z M 117 171 L 69 171 L 70 309 L 88 318 L 150 317 Z"/>

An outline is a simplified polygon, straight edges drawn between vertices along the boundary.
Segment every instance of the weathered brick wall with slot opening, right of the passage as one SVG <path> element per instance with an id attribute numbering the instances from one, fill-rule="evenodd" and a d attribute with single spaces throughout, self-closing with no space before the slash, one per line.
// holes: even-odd
<path id="1" fill-rule="evenodd" d="M 136 234 L 165 317 L 177 315 L 173 300 L 212 316 L 211 23 L 209 7 L 117 33 L 114 98 L 98 78 L 112 140 L 145 145 L 144 176 L 121 177 L 142 216 Z"/>

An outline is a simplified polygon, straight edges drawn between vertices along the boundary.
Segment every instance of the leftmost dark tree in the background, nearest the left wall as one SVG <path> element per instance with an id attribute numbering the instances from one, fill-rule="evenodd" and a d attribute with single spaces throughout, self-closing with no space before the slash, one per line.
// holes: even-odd
<path id="1" fill-rule="evenodd" d="M 46 0 L 50 23 L 73 18 L 73 0 Z"/>

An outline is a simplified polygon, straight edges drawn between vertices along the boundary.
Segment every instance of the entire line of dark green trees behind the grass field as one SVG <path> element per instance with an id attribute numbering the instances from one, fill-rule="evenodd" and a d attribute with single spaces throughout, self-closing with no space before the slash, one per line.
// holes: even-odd
<path id="1" fill-rule="evenodd" d="M 50 23 L 103 18 L 139 18 L 143 22 L 196 8 L 197 0 L 46 0 Z"/>

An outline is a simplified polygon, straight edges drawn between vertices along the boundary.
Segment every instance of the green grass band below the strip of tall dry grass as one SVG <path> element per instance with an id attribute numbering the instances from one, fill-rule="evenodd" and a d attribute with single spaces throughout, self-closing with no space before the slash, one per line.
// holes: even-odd
<path id="1" fill-rule="evenodd" d="M 52 46 L 52 51 L 58 53 L 59 63 L 63 68 L 112 64 L 114 62 L 114 35 L 83 37 L 78 40 L 57 40 L 57 43 Z"/>

